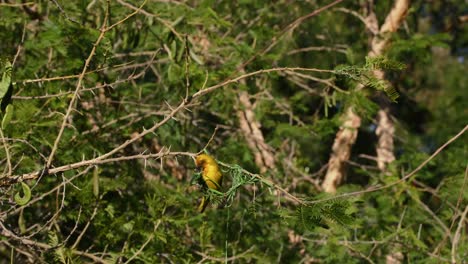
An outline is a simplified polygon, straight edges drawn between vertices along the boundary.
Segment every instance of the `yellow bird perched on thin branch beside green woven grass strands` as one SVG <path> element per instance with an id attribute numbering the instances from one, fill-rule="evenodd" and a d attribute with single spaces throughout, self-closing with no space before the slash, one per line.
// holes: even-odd
<path id="1" fill-rule="evenodd" d="M 221 182 L 223 175 L 218 167 L 216 160 L 207 154 L 200 154 L 195 158 L 195 165 L 202 169 L 202 178 L 206 186 L 210 189 L 219 191 L 221 189 Z M 202 197 L 198 212 L 203 213 L 208 205 L 209 198 Z"/>

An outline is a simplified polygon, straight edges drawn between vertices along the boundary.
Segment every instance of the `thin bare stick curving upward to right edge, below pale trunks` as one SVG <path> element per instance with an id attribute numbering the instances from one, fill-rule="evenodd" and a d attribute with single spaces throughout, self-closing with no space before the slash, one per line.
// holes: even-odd
<path id="1" fill-rule="evenodd" d="M 399 183 L 402 183 L 404 181 L 406 181 L 407 179 L 411 178 L 414 174 L 416 174 L 418 171 L 420 171 L 424 166 L 426 166 L 426 164 L 431 161 L 432 159 L 434 159 L 443 149 L 445 149 L 448 145 L 450 145 L 452 142 L 454 142 L 455 140 L 457 140 L 461 135 L 463 135 L 463 133 L 466 132 L 466 130 L 468 130 L 468 125 L 465 126 L 465 128 L 463 128 L 460 132 L 458 132 L 458 134 L 456 134 L 455 136 L 453 136 L 451 139 L 449 139 L 447 142 L 445 142 L 440 148 L 438 148 L 429 158 L 427 158 L 423 163 L 419 164 L 419 166 L 413 170 L 411 173 L 405 175 L 403 178 L 395 181 L 395 182 L 392 182 L 392 183 L 389 183 L 387 185 L 384 185 L 384 186 L 372 186 L 366 190 L 363 190 L 363 191 L 357 191 L 357 192 L 350 192 L 350 193 L 344 193 L 344 194 L 340 194 L 340 195 L 336 195 L 336 196 L 333 196 L 333 197 L 330 197 L 330 198 L 324 198 L 324 199 L 319 199 L 319 200 L 315 200 L 315 201 L 311 201 L 311 202 L 308 202 L 308 204 L 317 204 L 317 203 L 321 203 L 321 202 L 325 202 L 325 201 L 330 201 L 330 200 L 334 200 L 334 199 L 339 199 L 339 198 L 345 198 L 345 197 L 352 197 L 352 196 L 357 196 L 357 195 L 361 195 L 361 194 L 364 194 L 364 193 L 370 193 L 370 192 L 375 192 L 375 191 L 380 191 L 380 190 L 383 190 L 383 189 L 388 189 L 392 186 L 395 186 Z"/>

